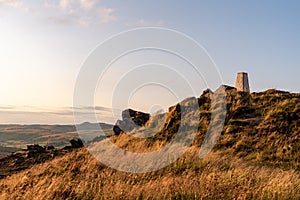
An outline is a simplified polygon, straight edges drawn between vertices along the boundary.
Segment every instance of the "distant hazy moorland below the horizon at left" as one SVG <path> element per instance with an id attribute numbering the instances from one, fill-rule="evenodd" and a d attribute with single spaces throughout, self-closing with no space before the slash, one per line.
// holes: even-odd
<path id="1" fill-rule="evenodd" d="M 106 123 L 85 122 L 77 128 L 87 139 L 92 140 L 100 135 L 98 125 L 103 132 L 111 134 L 112 125 Z M 0 125 L 0 157 L 30 144 L 64 147 L 69 144 L 69 140 L 78 137 L 75 125 Z"/>

